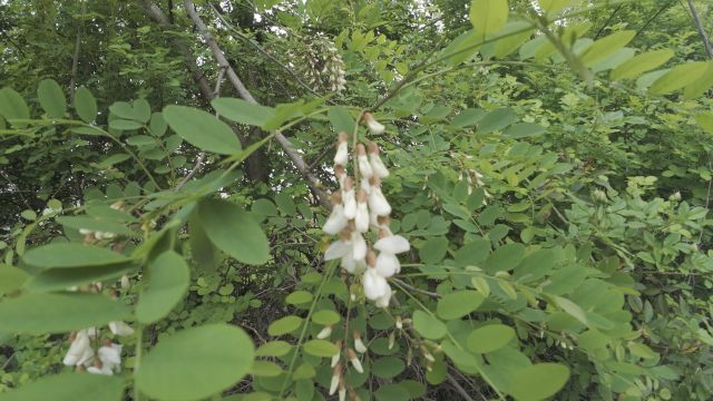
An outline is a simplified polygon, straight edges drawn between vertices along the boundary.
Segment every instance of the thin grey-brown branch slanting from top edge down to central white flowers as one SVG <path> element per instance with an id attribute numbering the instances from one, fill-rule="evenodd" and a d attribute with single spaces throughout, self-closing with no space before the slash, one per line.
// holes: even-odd
<path id="1" fill-rule="evenodd" d="M 225 53 L 223 52 L 223 50 L 219 48 L 218 43 L 215 41 L 215 39 L 211 35 L 211 32 L 208 31 L 208 27 L 206 27 L 206 25 L 203 22 L 203 20 L 201 19 L 198 13 L 196 12 L 196 8 L 195 8 L 193 1 L 184 0 L 184 4 L 186 7 L 186 11 L 188 13 L 188 17 L 191 17 L 193 22 L 196 25 L 196 27 L 198 28 L 198 31 L 201 32 L 201 36 L 203 37 L 203 40 L 205 40 L 206 45 L 208 46 L 208 48 L 213 52 L 213 57 L 215 57 L 215 60 L 217 61 L 218 67 L 225 69 L 226 74 L 227 74 L 227 78 L 231 81 L 231 84 L 233 85 L 233 87 L 235 88 L 235 90 L 237 91 L 237 94 L 244 100 L 250 101 L 250 102 L 255 104 L 255 105 L 258 105 L 260 102 L 253 97 L 253 95 L 250 92 L 250 90 L 247 90 L 247 88 L 245 87 L 243 81 L 240 79 L 240 77 L 237 76 L 237 74 L 233 69 L 233 67 L 231 67 L 231 63 L 225 58 Z M 310 173 L 310 170 L 307 169 L 307 165 L 304 163 L 304 159 L 292 147 L 292 144 L 290 143 L 290 140 L 287 138 L 285 138 L 285 136 L 282 135 L 282 133 L 276 133 L 275 134 L 275 140 L 282 147 L 284 153 L 290 157 L 290 159 L 292 160 L 294 166 L 297 168 L 300 174 L 302 174 L 302 176 L 307 180 L 307 185 L 310 186 L 310 188 L 314 193 L 314 196 L 318 198 L 318 200 L 324 207 L 331 208 L 331 204 L 329 202 L 329 198 L 328 198 L 326 194 L 324 193 L 324 190 L 322 190 L 322 184 L 320 183 L 320 180 L 312 173 Z"/>

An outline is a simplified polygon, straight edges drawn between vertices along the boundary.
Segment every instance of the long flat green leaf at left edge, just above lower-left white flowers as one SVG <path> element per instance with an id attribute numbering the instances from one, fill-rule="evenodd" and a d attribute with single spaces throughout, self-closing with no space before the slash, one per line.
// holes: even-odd
<path id="1" fill-rule="evenodd" d="M 64 333 L 125 320 L 129 310 L 106 296 L 88 293 L 29 293 L 0 302 L 0 332 Z"/>

